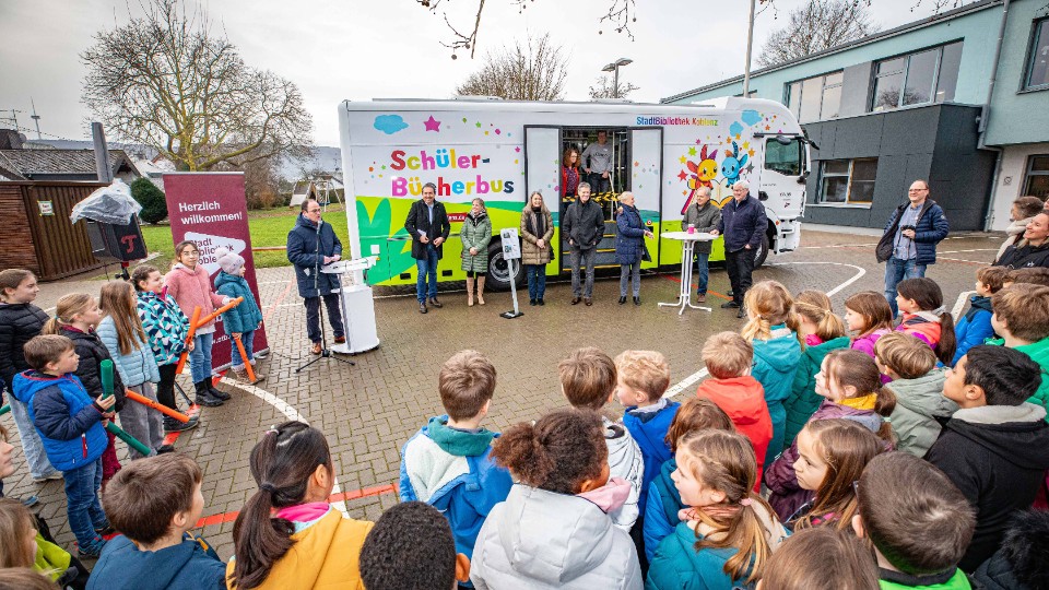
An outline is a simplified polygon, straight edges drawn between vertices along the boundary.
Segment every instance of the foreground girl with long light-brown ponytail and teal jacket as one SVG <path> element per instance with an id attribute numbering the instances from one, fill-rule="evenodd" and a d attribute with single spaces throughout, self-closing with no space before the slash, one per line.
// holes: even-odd
<path id="1" fill-rule="evenodd" d="M 750 293 L 750 292 L 749 292 Z M 651 588 L 750 587 L 787 530 L 754 493 L 757 461 L 738 433 L 700 430 L 677 445 L 674 484 L 687 506 L 683 522 L 656 550 Z"/>

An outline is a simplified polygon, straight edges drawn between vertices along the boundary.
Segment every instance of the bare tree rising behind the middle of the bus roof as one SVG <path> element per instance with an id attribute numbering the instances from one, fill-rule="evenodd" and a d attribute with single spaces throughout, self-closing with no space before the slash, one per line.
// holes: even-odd
<path id="1" fill-rule="evenodd" d="M 568 58 L 564 48 L 550 40 L 550 33 L 524 46 L 490 51 L 481 69 L 456 88 L 458 94 L 498 96 L 511 101 L 557 101 L 564 97 Z"/>

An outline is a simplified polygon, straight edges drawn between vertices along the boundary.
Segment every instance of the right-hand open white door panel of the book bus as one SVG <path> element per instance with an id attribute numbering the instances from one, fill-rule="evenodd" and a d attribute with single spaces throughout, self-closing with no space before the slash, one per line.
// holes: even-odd
<path id="1" fill-rule="evenodd" d="M 641 262 L 641 268 L 655 268 L 660 262 L 659 233 L 663 212 L 663 129 L 632 127 L 629 133 L 626 186 L 634 193 L 634 204 L 641 214 L 641 222 L 656 234 L 655 239 L 645 240 L 651 260 Z"/>

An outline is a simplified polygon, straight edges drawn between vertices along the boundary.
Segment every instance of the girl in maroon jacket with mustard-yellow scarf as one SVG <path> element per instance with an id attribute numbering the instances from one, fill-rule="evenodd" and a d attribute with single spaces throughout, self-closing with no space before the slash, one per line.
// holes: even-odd
<path id="1" fill-rule="evenodd" d="M 885 448 L 893 448 L 893 427 L 888 416 L 896 408 L 896 396 L 882 386 L 881 373 L 873 358 L 854 350 L 827 354 L 816 375 L 816 393 L 825 399 L 809 420 L 810 424 L 830 418 L 851 420 L 877 435 Z M 795 439 L 765 470 L 765 484 L 771 492 L 768 502 L 785 520 L 812 499 L 812 492 L 798 483 L 794 472 L 798 457 Z"/>

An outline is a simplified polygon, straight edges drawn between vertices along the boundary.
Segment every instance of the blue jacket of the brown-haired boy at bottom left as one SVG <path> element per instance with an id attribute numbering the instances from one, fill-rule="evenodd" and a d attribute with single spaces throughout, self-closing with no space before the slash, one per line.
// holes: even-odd
<path id="1" fill-rule="evenodd" d="M 226 588 L 226 564 L 201 538 L 186 533 L 181 543 L 141 551 L 122 534 L 102 550 L 87 590 L 207 590 Z"/>

